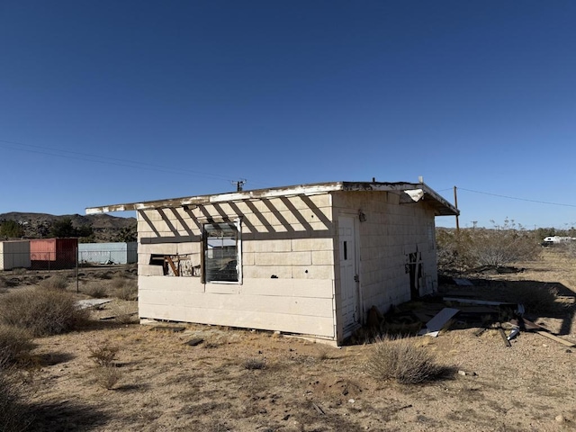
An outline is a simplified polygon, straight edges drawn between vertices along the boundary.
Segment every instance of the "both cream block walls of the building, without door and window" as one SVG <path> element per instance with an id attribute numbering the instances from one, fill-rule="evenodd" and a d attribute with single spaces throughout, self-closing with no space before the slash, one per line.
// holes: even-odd
<path id="1" fill-rule="evenodd" d="M 398 193 L 312 196 L 139 211 L 140 318 L 280 330 L 341 342 L 338 216 L 357 224 L 360 297 L 365 314 L 410 300 L 409 254 L 419 251 L 420 293 L 437 288 L 434 211 L 400 204 Z M 202 224 L 241 218 L 242 284 L 202 284 L 163 275 L 151 254 L 188 255 L 201 265 Z M 336 270 L 335 270 L 336 269 Z"/>

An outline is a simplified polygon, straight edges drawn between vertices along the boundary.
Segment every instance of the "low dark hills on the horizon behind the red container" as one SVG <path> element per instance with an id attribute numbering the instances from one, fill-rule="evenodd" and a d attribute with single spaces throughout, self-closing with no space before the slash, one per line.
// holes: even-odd
<path id="1" fill-rule="evenodd" d="M 122 241 L 127 235 L 136 234 L 136 218 L 119 218 L 109 214 L 65 214 L 56 216 L 46 213 L 21 213 L 12 211 L 0 213 L 0 224 L 5 220 L 15 220 L 24 229 L 24 238 L 48 238 L 54 221 L 69 218 L 74 228 L 90 227 L 94 231 L 90 241 Z"/>

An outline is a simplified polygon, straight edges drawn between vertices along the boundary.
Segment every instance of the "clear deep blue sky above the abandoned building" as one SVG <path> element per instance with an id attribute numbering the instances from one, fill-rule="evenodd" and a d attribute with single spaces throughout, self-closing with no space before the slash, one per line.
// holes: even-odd
<path id="1" fill-rule="evenodd" d="M 566 228 L 575 137 L 572 1 L 0 2 L 0 212 L 422 175 Z"/>

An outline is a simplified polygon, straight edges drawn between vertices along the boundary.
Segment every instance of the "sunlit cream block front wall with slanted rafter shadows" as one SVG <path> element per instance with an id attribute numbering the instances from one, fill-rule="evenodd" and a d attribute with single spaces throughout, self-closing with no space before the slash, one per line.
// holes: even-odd
<path id="1" fill-rule="evenodd" d="M 202 224 L 241 219 L 242 284 L 162 274 L 152 255 L 202 257 Z M 336 337 L 329 194 L 139 211 L 139 315 Z"/>

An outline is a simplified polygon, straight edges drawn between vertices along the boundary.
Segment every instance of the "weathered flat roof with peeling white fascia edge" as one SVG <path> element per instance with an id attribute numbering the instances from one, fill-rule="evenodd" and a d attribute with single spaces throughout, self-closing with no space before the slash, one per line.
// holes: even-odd
<path id="1" fill-rule="evenodd" d="M 186 196 L 182 198 L 170 198 L 166 200 L 154 200 L 144 202 L 127 202 L 121 204 L 109 204 L 99 207 L 88 207 L 86 214 L 108 213 L 111 211 L 138 211 L 151 209 L 166 209 L 184 207 L 216 202 L 238 202 L 257 200 L 262 198 L 275 198 L 280 196 L 315 195 L 330 192 L 397 192 L 402 198 L 412 202 L 427 202 L 437 212 L 437 216 L 456 216 L 460 211 L 446 201 L 439 193 L 424 183 L 382 183 L 382 182 L 332 182 L 315 184 L 298 184 L 293 186 L 272 187 L 267 189 L 254 189 L 248 191 L 217 193 L 211 195 Z M 406 201 L 410 202 L 410 201 Z"/>

